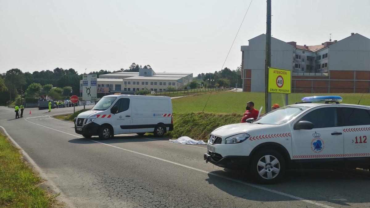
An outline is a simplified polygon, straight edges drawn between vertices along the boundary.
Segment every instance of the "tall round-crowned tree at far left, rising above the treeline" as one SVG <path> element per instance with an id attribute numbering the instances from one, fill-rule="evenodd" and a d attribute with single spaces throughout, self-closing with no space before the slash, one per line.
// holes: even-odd
<path id="1" fill-rule="evenodd" d="M 5 73 L 5 84 L 10 90 L 11 97 L 14 99 L 17 94 L 17 88 L 26 84 L 24 74 L 17 68 L 12 68 Z"/>

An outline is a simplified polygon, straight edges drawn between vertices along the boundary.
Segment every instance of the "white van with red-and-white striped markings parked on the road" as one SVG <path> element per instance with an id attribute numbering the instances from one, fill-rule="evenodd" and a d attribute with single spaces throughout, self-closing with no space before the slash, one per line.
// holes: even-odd
<path id="1" fill-rule="evenodd" d="M 98 135 L 108 139 L 116 134 L 146 132 L 163 137 L 172 131 L 170 97 L 145 95 L 107 95 L 90 111 L 78 114 L 75 132 L 85 138 Z"/>

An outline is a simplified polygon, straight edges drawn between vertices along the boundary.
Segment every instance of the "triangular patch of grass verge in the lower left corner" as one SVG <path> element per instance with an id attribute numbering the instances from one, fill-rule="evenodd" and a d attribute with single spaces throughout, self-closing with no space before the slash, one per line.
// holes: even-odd
<path id="1" fill-rule="evenodd" d="M 54 207 L 54 196 L 38 187 L 42 181 L 0 133 L 0 207 Z"/>

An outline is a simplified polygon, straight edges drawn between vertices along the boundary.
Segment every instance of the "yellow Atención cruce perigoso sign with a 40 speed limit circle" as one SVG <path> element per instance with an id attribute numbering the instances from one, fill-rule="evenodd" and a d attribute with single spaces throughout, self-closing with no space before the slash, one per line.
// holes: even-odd
<path id="1" fill-rule="evenodd" d="M 290 70 L 269 67 L 268 92 L 290 94 L 290 80 Z"/>

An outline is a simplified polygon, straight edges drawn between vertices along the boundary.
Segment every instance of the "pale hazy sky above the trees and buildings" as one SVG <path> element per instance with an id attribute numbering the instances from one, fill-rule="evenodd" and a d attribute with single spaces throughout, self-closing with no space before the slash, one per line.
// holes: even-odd
<path id="1" fill-rule="evenodd" d="M 78 73 L 149 64 L 196 76 L 221 70 L 250 0 L 0 0 L 0 73 Z M 272 37 L 317 45 L 350 33 L 370 38 L 370 0 L 272 0 Z M 252 0 L 225 66 L 266 33 L 266 1 Z"/>

